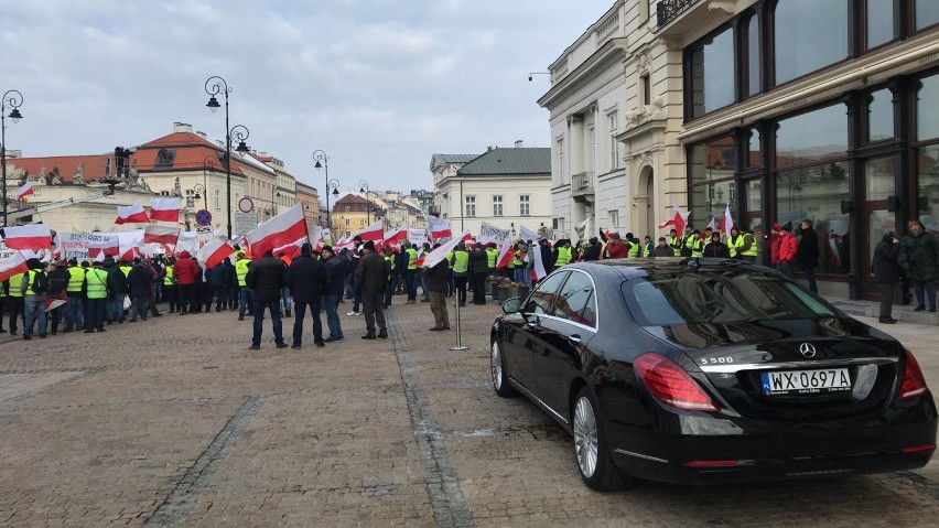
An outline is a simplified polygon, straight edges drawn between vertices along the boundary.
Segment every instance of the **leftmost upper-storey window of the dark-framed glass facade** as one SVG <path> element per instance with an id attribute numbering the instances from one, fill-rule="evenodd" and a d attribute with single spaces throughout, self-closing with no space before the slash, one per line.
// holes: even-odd
<path id="1" fill-rule="evenodd" d="M 734 103 L 732 28 L 726 28 L 691 46 L 688 61 L 691 118 Z"/>

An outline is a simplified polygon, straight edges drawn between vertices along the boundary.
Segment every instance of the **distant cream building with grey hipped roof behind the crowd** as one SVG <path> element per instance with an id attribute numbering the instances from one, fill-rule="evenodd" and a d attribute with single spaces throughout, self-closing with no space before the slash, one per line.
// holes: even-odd
<path id="1" fill-rule="evenodd" d="M 512 235 L 557 227 L 551 217 L 551 149 L 494 148 L 483 154 L 434 154 L 434 203 L 454 233 L 479 233 L 483 222 Z M 543 230 L 543 229 L 542 229 Z"/>

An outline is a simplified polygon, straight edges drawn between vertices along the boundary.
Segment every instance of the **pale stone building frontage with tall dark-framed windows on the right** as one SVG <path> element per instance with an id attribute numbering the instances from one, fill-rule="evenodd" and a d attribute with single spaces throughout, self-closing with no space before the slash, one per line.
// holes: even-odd
<path id="1" fill-rule="evenodd" d="M 638 236 L 673 205 L 758 234 L 809 219 L 820 291 L 876 299 L 883 234 L 939 233 L 937 52 L 931 0 L 617 1 L 539 99 L 553 214 Z"/>

